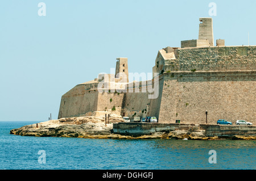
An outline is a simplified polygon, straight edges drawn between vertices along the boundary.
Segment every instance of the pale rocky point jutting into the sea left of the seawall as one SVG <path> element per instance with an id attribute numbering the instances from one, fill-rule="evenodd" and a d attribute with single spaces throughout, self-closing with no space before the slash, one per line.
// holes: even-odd
<path id="1" fill-rule="evenodd" d="M 105 124 L 104 117 L 61 118 L 12 129 L 10 133 L 20 136 L 39 137 L 91 137 L 96 135 L 100 137 L 111 135 L 113 123 L 121 121 L 123 119 L 119 117 L 110 117 L 109 124 Z"/>

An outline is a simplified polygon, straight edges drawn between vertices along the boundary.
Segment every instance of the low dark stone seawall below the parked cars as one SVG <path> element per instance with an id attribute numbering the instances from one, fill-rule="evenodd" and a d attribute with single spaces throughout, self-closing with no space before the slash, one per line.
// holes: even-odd
<path id="1" fill-rule="evenodd" d="M 156 132 L 204 131 L 207 137 L 232 137 L 234 135 L 255 135 L 256 126 L 216 125 L 216 124 L 177 124 L 177 123 L 116 123 L 113 133 L 127 136 L 141 136 Z"/>

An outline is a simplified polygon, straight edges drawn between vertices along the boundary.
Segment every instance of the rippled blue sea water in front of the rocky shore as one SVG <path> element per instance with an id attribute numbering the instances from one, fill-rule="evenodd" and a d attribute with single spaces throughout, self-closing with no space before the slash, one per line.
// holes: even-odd
<path id="1" fill-rule="evenodd" d="M 255 140 L 94 140 L 26 137 L 10 130 L 35 122 L 0 122 L 1 170 L 256 169 Z M 45 151 L 45 162 L 39 150 Z M 217 163 L 209 163 L 210 150 Z"/>

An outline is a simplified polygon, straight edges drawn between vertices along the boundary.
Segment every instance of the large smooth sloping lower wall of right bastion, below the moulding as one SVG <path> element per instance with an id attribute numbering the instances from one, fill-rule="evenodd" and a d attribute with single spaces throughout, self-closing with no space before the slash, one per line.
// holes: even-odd
<path id="1" fill-rule="evenodd" d="M 159 122 L 204 124 L 218 119 L 256 124 L 256 72 L 164 73 Z"/>

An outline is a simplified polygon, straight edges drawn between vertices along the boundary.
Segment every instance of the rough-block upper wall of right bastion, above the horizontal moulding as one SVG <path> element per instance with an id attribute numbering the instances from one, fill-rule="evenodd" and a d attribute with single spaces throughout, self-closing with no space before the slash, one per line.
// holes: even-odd
<path id="1" fill-rule="evenodd" d="M 256 69 L 256 47 L 175 49 L 177 60 L 166 60 L 165 71 L 234 71 Z"/>

